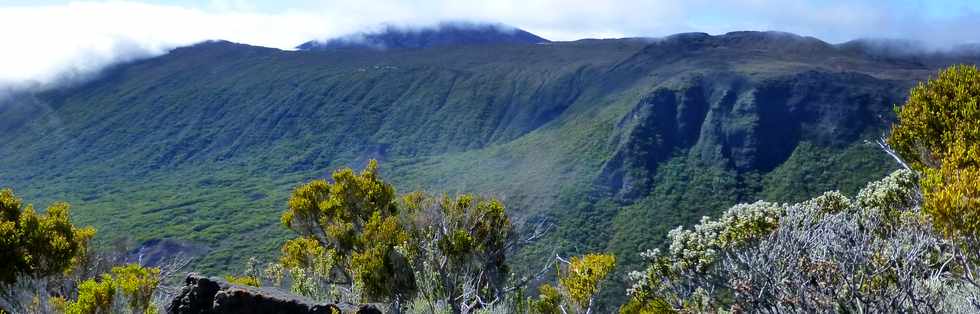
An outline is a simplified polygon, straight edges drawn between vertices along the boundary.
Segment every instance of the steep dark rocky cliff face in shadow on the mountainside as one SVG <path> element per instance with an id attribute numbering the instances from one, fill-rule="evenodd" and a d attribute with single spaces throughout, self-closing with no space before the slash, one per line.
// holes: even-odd
<path id="1" fill-rule="evenodd" d="M 687 78 L 655 89 L 623 117 L 598 183 L 622 200 L 636 199 L 652 188 L 658 165 L 676 155 L 768 173 L 801 142 L 841 148 L 881 131 L 905 88 L 907 82 L 851 72 Z"/>

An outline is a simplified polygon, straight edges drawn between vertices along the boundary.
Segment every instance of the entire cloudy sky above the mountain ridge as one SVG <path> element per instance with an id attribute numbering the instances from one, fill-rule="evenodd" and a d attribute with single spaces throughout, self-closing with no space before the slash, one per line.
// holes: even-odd
<path id="1" fill-rule="evenodd" d="M 980 0 L 0 0 L 0 91 L 81 80 L 208 39 L 292 49 L 384 23 L 442 21 L 503 23 L 550 40 L 776 30 L 831 43 L 980 42 Z"/>

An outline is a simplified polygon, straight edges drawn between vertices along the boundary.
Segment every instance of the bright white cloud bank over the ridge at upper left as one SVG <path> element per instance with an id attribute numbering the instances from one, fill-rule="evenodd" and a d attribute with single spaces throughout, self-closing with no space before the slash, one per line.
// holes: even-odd
<path id="1" fill-rule="evenodd" d="M 329 31 L 304 13 L 210 13 L 126 2 L 0 9 L 0 82 L 49 84 L 207 39 L 288 48 Z"/>

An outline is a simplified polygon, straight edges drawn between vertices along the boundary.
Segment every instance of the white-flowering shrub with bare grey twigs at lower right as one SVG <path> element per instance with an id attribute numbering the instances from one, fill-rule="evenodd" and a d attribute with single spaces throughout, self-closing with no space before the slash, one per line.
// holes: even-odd
<path id="1" fill-rule="evenodd" d="M 951 309 L 941 305 L 948 292 L 922 288 L 947 275 L 936 264 L 945 242 L 920 203 L 915 174 L 900 170 L 854 200 L 831 191 L 792 205 L 739 204 L 671 230 L 667 250 L 641 253 L 647 268 L 629 274 L 628 293 L 695 312 Z M 715 299 L 720 291 L 734 301 Z"/>

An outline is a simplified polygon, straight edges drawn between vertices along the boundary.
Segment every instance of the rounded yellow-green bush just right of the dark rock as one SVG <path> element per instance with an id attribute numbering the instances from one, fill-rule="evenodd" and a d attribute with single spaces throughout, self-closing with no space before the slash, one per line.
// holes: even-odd
<path id="1" fill-rule="evenodd" d="M 394 187 L 381 180 L 374 160 L 360 174 L 344 168 L 332 178 L 293 190 L 282 223 L 299 237 L 283 246 L 281 265 L 356 286 L 369 299 L 410 298 L 415 281 L 396 250 L 408 239 L 398 220 Z"/>

